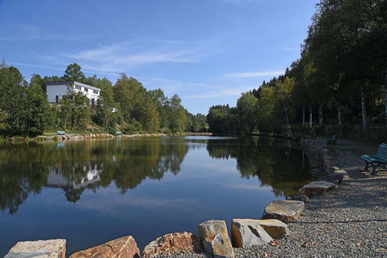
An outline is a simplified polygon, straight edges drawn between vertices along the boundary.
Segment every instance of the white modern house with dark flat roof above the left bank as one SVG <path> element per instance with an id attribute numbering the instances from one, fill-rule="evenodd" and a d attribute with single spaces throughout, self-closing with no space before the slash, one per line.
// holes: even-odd
<path id="1" fill-rule="evenodd" d="M 101 89 L 80 82 L 46 82 L 48 102 L 58 103 L 67 93 L 67 86 L 73 85 L 75 92 L 81 91 L 90 99 L 90 104 L 96 104 Z"/>

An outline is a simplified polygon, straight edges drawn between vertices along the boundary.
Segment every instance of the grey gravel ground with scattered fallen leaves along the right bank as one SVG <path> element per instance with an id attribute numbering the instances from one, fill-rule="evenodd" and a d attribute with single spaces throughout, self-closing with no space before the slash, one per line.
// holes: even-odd
<path id="1" fill-rule="evenodd" d="M 326 141 L 315 144 L 326 146 Z M 360 155 L 374 154 L 377 147 L 338 140 L 337 146 L 329 147 L 330 155 L 351 179 L 332 192 L 310 198 L 301 217 L 288 223 L 289 236 L 277 245 L 234 248 L 235 257 L 387 257 L 387 176 L 366 176 L 357 170 L 364 167 Z"/>

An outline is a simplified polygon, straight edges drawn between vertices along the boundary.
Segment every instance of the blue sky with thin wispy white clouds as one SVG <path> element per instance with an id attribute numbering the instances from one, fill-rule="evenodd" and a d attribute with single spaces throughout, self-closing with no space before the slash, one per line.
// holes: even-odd
<path id="1" fill-rule="evenodd" d="M 207 114 L 299 58 L 314 12 L 314 0 L 0 0 L 0 55 L 27 80 L 74 62 L 113 84 L 125 72 Z"/>

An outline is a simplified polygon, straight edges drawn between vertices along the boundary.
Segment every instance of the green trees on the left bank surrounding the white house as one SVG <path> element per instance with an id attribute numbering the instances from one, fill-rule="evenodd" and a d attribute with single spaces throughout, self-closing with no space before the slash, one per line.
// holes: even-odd
<path id="1" fill-rule="evenodd" d="M 91 105 L 83 92 L 68 87 L 59 103 L 48 103 L 46 82 L 77 81 L 101 89 Z M 101 130 L 123 132 L 205 132 L 206 116 L 193 115 L 175 94 L 168 98 L 161 89 L 147 91 L 133 77 L 120 73 L 115 85 L 104 77 L 85 77 L 77 63 L 68 65 L 62 77 L 41 78 L 33 74 L 27 82 L 20 71 L 0 65 L 0 135 L 34 136 L 45 130 Z"/>

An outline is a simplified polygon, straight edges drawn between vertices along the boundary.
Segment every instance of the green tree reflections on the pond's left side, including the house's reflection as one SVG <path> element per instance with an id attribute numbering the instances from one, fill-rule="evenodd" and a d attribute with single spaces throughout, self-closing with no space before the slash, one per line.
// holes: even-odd
<path id="1" fill-rule="evenodd" d="M 0 209 L 17 212 L 29 194 L 43 187 L 61 188 L 69 202 L 85 189 L 96 191 L 114 182 L 120 193 L 144 179 L 178 174 L 188 152 L 183 138 L 92 139 L 0 145 Z M 163 141 L 168 141 L 163 144 Z"/>

